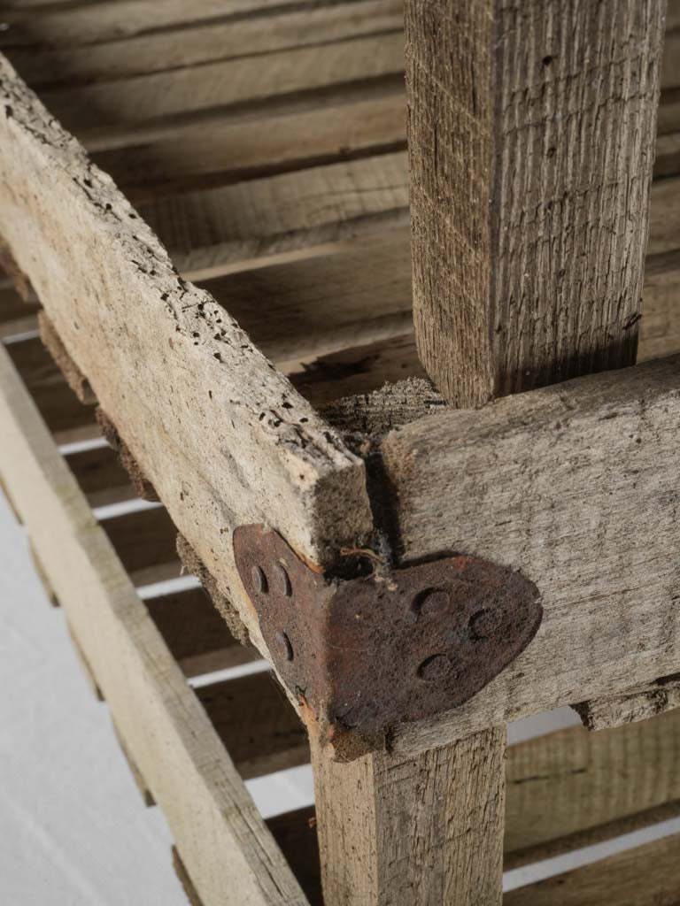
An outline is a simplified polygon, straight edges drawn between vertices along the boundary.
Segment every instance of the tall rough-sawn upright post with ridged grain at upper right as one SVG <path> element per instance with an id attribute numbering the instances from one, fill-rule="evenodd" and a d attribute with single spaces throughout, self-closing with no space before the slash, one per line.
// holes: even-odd
<path id="1" fill-rule="evenodd" d="M 635 361 L 664 11 L 406 4 L 414 320 L 456 405 Z"/>

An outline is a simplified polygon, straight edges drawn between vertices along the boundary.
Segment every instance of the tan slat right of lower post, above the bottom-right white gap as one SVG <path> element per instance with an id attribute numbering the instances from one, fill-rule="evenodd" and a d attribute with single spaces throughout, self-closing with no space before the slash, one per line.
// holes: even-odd
<path id="1" fill-rule="evenodd" d="M 571 727 L 508 748 L 506 868 L 680 813 L 680 713 L 588 733 Z"/>

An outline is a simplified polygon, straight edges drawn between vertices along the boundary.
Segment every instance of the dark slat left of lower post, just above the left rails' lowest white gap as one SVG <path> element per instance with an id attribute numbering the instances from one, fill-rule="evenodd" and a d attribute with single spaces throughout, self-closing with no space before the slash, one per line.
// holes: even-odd
<path id="1" fill-rule="evenodd" d="M 196 690 L 244 780 L 309 762 L 306 729 L 267 673 Z"/>

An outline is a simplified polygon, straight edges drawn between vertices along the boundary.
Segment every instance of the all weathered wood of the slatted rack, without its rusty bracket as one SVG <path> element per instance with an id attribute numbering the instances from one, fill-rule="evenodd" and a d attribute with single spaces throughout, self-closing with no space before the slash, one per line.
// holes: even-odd
<path id="1" fill-rule="evenodd" d="M 677 836 L 500 883 L 680 814 L 680 5 L 407 0 L 411 186 L 401 2 L 0 9 L 0 477 L 189 896 L 675 902 Z M 349 725 L 244 525 L 337 587 L 483 558 L 543 619 L 456 707 Z M 140 594 L 180 557 L 212 602 Z M 256 651 L 279 685 L 187 681 Z M 597 732 L 506 749 L 562 705 Z M 309 760 L 263 821 L 244 779 Z"/>

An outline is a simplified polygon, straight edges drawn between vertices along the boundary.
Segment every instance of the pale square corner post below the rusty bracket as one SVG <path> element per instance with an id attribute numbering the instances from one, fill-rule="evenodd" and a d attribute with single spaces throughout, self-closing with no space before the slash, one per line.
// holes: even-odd
<path id="1" fill-rule="evenodd" d="M 417 757 L 312 747 L 325 906 L 500 904 L 505 728 Z"/>

